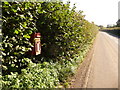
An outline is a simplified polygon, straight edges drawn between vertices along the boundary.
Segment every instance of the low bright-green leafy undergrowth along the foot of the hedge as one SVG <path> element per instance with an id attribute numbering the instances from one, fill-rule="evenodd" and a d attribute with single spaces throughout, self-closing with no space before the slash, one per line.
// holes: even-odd
<path id="1" fill-rule="evenodd" d="M 44 62 L 35 64 L 29 61 L 28 67 L 21 74 L 12 73 L 2 77 L 2 89 L 8 88 L 55 88 L 60 82 L 66 82 L 67 77 L 75 73 L 79 59 L 62 60 L 59 62 Z"/>

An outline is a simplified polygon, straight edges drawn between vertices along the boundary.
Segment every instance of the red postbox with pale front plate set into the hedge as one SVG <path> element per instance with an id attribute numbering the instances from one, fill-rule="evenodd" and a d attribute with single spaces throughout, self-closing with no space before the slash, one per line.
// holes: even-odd
<path id="1" fill-rule="evenodd" d="M 30 52 L 31 55 L 39 55 L 41 54 L 41 41 L 40 41 L 40 33 L 33 33 L 30 37 L 30 42 L 34 45 L 32 51 Z"/>

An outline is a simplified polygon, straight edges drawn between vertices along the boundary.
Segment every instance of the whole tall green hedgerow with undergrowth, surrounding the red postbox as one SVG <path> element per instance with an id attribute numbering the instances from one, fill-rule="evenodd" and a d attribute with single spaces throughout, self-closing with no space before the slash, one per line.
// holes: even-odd
<path id="1" fill-rule="evenodd" d="M 55 87 L 73 74 L 97 33 L 70 3 L 3 2 L 3 87 Z M 29 56 L 30 35 L 41 33 L 42 54 Z M 37 64 L 31 61 L 38 61 Z M 33 67 L 31 66 L 33 65 Z M 15 72 L 15 73 L 14 73 Z"/>

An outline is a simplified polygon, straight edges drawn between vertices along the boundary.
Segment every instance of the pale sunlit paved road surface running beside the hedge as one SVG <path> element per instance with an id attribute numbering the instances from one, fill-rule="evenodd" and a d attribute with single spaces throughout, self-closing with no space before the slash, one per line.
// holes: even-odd
<path id="1" fill-rule="evenodd" d="M 98 33 L 87 88 L 118 88 L 118 47 L 117 37 Z"/>

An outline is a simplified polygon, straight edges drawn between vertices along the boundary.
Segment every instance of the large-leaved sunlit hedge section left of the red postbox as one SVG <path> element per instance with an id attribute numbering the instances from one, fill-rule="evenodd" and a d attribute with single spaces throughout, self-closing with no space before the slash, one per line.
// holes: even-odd
<path id="1" fill-rule="evenodd" d="M 27 64 L 25 52 L 30 50 L 30 34 L 36 31 L 33 3 L 4 2 L 2 6 L 3 59 L 7 72 L 18 71 Z M 37 6 L 37 5 L 36 5 Z"/>

